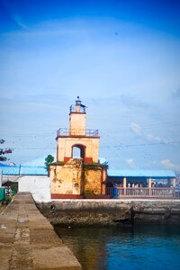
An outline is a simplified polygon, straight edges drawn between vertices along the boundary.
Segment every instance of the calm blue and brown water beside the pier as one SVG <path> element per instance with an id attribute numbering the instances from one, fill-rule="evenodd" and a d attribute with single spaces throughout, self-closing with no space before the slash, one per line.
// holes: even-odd
<path id="1" fill-rule="evenodd" d="M 83 269 L 180 269 L 180 226 L 55 229 Z"/>

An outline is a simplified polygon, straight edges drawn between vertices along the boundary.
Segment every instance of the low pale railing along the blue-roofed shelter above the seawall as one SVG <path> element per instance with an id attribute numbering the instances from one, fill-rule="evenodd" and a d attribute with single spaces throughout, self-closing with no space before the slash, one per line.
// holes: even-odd
<path id="1" fill-rule="evenodd" d="M 153 198 L 173 198 L 180 197 L 180 190 L 174 187 L 106 187 L 106 194 L 115 197 L 153 197 Z"/>

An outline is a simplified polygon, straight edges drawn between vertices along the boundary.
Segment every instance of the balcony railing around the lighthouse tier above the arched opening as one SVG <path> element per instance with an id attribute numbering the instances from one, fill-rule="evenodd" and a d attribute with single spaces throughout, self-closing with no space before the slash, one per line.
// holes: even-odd
<path id="1" fill-rule="evenodd" d="M 60 128 L 57 131 L 57 137 L 60 136 L 85 136 L 85 137 L 97 137 L 99 132 L 98 130 L 68 130 Z"/>

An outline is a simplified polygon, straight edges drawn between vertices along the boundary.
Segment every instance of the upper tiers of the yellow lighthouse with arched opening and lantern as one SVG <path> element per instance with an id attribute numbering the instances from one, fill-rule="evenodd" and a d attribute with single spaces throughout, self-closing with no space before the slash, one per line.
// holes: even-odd
<path id="1" fill-rule="evenodd" d="M 86 106 L 79 96 L 76 103 L 69 108 L 69 129 L 57 132 L 57 162 L 67 162 L 76 157 L 77 149 L 84 163 L 98 163 L 99 139 L 98 130 L 86 130 Z"/>

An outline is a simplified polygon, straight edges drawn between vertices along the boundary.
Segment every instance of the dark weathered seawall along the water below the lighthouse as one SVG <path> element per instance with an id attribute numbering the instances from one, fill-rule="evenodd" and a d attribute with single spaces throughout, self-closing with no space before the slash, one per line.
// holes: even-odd
<path id="1" fill-rule="evenodd" d="M 180 200 L 58 200 L 37 206 L 52 224 L 180 223 Z"/>

